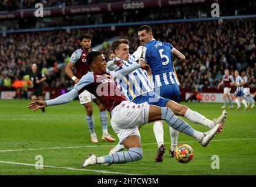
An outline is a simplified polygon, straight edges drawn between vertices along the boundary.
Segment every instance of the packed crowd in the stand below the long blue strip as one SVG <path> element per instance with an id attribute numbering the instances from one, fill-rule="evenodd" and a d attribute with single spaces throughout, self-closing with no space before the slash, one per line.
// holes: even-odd
<path id="1" fill-rule="evenodd" d="M 151 25 L 156 40 L 166 41 L 186 56 L 186 63 L 176 66 L 181 88 L 196 84 L 216 88 L 224 69 L 246 71 L 251 88 L 256 88 L 256 21 L 224 20 L 223 22 L 191 22 Z M 124 28 L 122 28 L 124 30 Z M 7 34 L 0 38 L 0 86 L 12 86 L 22 79 L 36 63 L 46 73 L 45 86 L 69 88 L 73 81 L 65 74 L 64 66 L 70 55 L 79 48 L 79 35 L 93 34 L 92 44 L 103 43 L 105 56 L 111 51 L 108 39 L 113 36 L 130 40 L 130 52 L 139 46 L 137 28 L 126 27 L 120 32 L 110 28 L 86 30 L 56 30 L 26 34 Z"/>

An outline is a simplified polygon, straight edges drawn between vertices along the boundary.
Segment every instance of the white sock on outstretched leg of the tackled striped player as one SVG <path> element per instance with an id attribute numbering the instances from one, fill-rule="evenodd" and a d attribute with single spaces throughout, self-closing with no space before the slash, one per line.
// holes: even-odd
<path id="1" fill-rule="evenodd" d="M 186 117 L 186 119 L 190 120 L 193 123 L 203 124 L 204 126 L 209 127 L 210 129 L 212 129 L 215 126 L 213 120 L 209 120 L 200 113 L 193 111 L 191 109 L 187 109 L 184 117 Z"/>

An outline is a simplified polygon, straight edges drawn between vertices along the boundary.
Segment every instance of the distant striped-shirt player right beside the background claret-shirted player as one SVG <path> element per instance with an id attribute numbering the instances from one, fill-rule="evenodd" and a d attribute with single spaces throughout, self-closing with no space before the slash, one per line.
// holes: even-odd
<path id="1" fill-rule="evenodd" d="M 239 71 L 235 70 L 235 86 L 237 86 L 237 89 L 235 90 L 235 103 L 237 103 L 237 110 L 241 108 L 240 101 L 244 104 L 245 110 L 248 109 L 248 105 L 246 103 L 246 100 L 244 99 L 244 81 L 239 75 Z M 240 101 L 238 100 L 240 98 Z"/>

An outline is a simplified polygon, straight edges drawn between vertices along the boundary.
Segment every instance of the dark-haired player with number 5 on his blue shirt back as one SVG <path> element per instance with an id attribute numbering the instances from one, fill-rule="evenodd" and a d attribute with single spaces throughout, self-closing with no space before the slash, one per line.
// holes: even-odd
<path id="1" fill-rule="evenodd" d="M 178 82 L 174 65 L 183 63 L 186 60 L 185 56 L 170 43 L 155 40 L 150 26 L 141 26 L 138 30 L 138 36 L 140 42 L 144 45 L 142 58 L 150 65 L 156 92 L 159 91 L 160 96 L 180 103 L 180 89 L 178 88 L 180 83 Z M 177 56 L 178 60 L 173 61 L 172 54 Z M 154 122 L 154 134 L 157 137 L 157 142 L 163 144 L 162 122 Z M 178 131 L 170 128 L 170 136 L 171 147 L 169 153 L 173 155 L 178 143 Z M 164 145 L 159 147 L 159 151 L 163 149 L 165 149 Z"/>

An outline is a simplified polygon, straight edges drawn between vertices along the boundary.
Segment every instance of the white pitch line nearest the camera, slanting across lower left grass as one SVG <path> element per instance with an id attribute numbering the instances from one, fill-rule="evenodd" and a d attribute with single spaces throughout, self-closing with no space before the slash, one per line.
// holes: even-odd
<path id="1" fill-rule="evenodd" d="M 27 166 L 33 166 L 33 167 L 37 166 L 35 164 L 26 164 L 26 163 L 9 162 L 9 161 L 0 161 L 0 163 L 27 165 Z M 57 167 L 57 166 L 52 166 L 52 165 L 41 165 L 41 167 L 43 167 L 43 168 L 56 168 L 56 169 L 69 169 L 69 170 L 75 170 L 75 171 L 90 171 L 90 172 L 98 172 L 98 173 L 102 173 L 102 174 L 139 175 L 139 174 L 128 174 L 128 173 L 123 173 L 123 172 L 104 171 L 104 170 L 95 170 L 95 169 L 78 169 L 78 168 L 70 168 L 70 167 Z"/>

